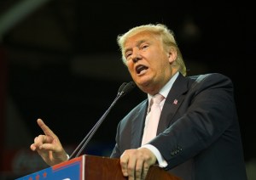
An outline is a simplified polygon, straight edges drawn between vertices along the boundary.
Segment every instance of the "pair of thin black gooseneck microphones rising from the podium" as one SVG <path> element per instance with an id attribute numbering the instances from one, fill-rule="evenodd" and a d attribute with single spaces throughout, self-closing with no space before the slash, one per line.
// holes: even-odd
<path id="1" fill-rule="evenodd" d="M 105 120 L 109 111 L 113 108 L 113 105 L 119 100 L 119 98 L 123 97 L 126 93 L 130 93 L 131 90 L 135 87 L 134 82 L 123 82 L 123 84 L 119 87 L 119 91 L 117 93 L 116 98 L 114 98 L 113 103 L 109 106 L 108 110 L 102 115 L 102 117 L 96 122 L 96 125 L 90 129 L 90 132 L 84 137 L 81 143 L 79 143 L 78 147 L 74 149 L 72 155 L 69 156 L 68 160 L 71 160 L 73 157 L 79 157 L 81 152 L 84 150 L 85 146 L 89 143 L 90 138 L 95 134 L 96 130 L 100 127 L 102 122 Z M 79 152 L 77 153 L 77 151 Z M 75 155 L 77 153 L 77 155 Z M 74 156 L 75 155 L 75 156 Z"/>

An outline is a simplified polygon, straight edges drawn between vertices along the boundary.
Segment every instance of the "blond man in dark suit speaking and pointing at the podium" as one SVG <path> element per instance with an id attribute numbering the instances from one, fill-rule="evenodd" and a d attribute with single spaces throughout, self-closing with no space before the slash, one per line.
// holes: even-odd
<path id="1" fill-rule="evenodd" d="M 118 37 L 133 81 L 148 99 L 119 122 L 111 157 L 124 176 L 144 179 L 158 164 L 184 180 L 246 180 L 241 135 L 230 78 L 213 73 L 186 77 L 177 43 L 166 25 L 141 25 Z M 151 98 L 160 94 L 154 138 L 144 142 Z M 67 160 L 59 139 L 43 121 L 44 135 L 31 145 L 53 166 Z M 153 129 L 149 129 L 149 132 Z M 156 131 L 156 130 L 155 130 Z"/>

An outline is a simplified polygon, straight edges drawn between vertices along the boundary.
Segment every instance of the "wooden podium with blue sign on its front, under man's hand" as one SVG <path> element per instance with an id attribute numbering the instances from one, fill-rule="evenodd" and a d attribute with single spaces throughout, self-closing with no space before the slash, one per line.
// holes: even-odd
<path id="1" fill-rule="evenodd" d="M 119 159 L 96 155 L 81 155 L 58 165 L 17 178 L 16 180 L 127 180 L 121 172 Z M 151 166 L 146 180 L 181 180 L 161 169 Z"/>

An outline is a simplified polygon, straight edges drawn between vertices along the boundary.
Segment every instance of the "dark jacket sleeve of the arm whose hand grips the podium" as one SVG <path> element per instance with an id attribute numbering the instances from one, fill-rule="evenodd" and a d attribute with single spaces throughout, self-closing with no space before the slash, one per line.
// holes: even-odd
<path id="1" fill-rule="evenodd" d="M 232 138 L 229 128 L 237 116 L 230 78 L 212 74 L 196 83 L 185 95 L 170 127 L 151 141 L 168 168 L 199 155 L 218 138 Z"/>

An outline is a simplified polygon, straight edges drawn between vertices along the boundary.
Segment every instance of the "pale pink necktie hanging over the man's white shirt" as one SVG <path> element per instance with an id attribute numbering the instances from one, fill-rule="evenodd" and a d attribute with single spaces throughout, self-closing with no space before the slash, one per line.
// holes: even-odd
<path id="1" fill-rule="evenodd" d="M 142 145 L 148 143 L 152 138 L 156 136 L 158 122 L 161 114 L 160 102 L 163 99 L 164 97 L 160 93 L 155 94 L 151 99 L 150 117 L 144 128 Z"/>

